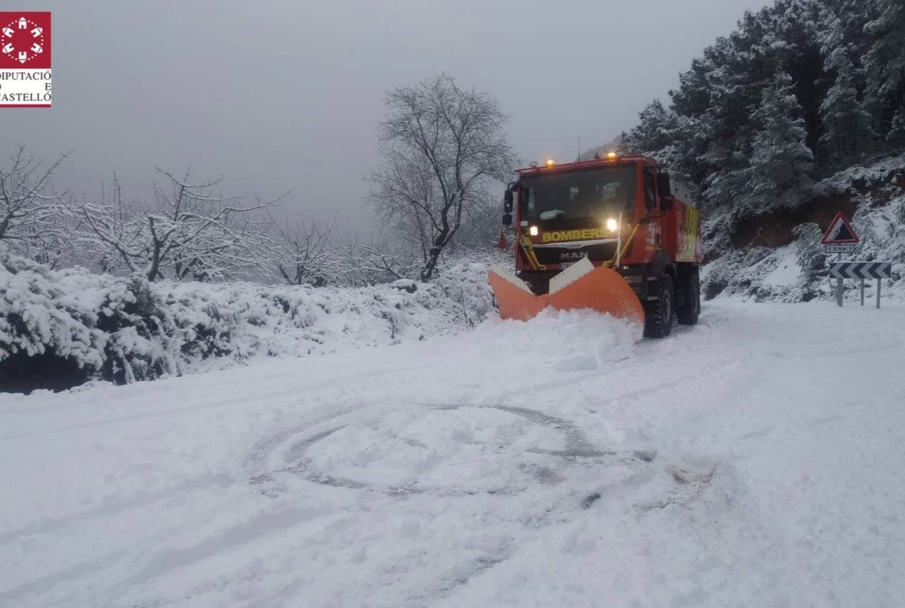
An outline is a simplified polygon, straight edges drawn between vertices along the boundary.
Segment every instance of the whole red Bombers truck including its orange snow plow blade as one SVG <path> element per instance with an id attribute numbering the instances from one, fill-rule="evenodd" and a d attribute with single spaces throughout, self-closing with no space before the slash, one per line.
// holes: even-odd
<path id="1" fill-rule="evenodd" d="M 490 282 L 502 318 L 594 309 L 666 337 L 700 314 L 700 219 L 653 158 L 614 152 L 517 171 L 503 199 L 515 268 Z"/>

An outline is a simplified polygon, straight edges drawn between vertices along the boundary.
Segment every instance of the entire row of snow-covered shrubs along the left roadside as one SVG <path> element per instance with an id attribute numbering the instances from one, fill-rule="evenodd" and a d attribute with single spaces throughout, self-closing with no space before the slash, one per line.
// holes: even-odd
<path id="1" fill-rule="evenodd" d="M 429 284 L 358 289 L 149 284 L 0 252 L 0 390 L 131 382 L 450 333 L 487 316 L 486 273 L 468 262 Z"/>

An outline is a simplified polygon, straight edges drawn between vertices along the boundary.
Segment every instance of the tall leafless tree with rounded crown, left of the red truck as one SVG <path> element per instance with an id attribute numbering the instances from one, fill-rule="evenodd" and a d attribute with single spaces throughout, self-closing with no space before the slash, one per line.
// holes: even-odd
<path id="1" fill-rule="evenodd" d="M 506 117 L 490 96 L 440 75 L 386 95 L 383 161 L 371 176 L 378 217 L 410 242 L 430 280 L 443 249 L 510 176 L 516 157 L 502 135 Z"/>

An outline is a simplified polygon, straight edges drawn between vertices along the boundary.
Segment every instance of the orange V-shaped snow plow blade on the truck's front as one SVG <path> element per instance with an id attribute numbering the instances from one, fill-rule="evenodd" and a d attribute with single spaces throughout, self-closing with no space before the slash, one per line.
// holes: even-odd
<path id="1" fill-rule="evenodd" d="M 523 280 L 506 271 L 491 270 L 490 282 L 500 317 L 528 320 L 548 306 L 557 310 L 592 309 L 644 323 L 644 309 L 634 291 L 619 275 L 587 259 L 576 262 L 550 279 L 548 294 L 531 292 Z"/>

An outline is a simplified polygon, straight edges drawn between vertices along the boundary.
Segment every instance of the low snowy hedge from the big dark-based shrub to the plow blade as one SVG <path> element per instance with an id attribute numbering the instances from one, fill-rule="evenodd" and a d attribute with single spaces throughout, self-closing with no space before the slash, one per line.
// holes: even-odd
<path id="1" fill-rule="evenodd" d="M 486 318 L 487 264 L 463 262 L 430 283 L 361 288 L 162 281 L 189 370 L 224 359 L 304 356 L 442 334 Z"/>

